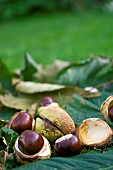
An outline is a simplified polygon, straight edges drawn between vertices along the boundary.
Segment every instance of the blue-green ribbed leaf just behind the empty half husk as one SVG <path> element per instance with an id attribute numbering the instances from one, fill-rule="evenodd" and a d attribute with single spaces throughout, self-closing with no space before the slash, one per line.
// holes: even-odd
<path id="1" fill-rule="evenodd" d="M 91 117 L 103 119 L 100 106 L 110 95 L 112 93 L 106 92 L 105 89 L 101 91 L 101 96 L 95 98 L 84 99 L 79 95 L 74 95 L 74 99 L 68 103 L 66 111 L 77 125 L 81 124 L 84 119 Z"/>

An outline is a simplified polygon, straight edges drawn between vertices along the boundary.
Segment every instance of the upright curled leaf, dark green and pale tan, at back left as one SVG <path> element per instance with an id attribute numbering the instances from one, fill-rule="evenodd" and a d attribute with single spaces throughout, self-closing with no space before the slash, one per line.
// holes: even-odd
<path id="1" fill-rule="evenodd" d="M 29 53 L 25 54 L 24 66 L 14 71 L 15 76 L 24 81 L 54 82 L 60 70 L 67 67 L 68 61 L 55 60 L 47 66 L 37 64 Z"/>

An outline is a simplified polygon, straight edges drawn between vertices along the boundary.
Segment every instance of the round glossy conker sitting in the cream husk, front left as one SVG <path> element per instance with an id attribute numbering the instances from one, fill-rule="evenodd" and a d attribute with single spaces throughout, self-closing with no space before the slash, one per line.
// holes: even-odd
<path id="1" fill-rule="evenodd" d="M 44 139 L 39 133 L 26 130 L 20 136 L 18 140 L 18 148 L 26 155 L 34 155 L 38 153 L 44 145 Z"/>

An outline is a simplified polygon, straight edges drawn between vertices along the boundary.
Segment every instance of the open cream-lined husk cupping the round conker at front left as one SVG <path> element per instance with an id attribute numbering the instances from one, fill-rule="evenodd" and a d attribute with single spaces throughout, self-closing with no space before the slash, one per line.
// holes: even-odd
<path id="1" fill-rule="evenodd" d="M 17 161 L 21 164 L 25 164 L 25 163 L 30 163 L 30 162 L 34 162 L 37 160 L 43 160 L 43 159 L 47 159 L 51 157 L 51 146 L 50 143 L 48 142 L 48 140 L 42 136 L 44 139 L 44 145 L 42 147 L 42 149 L 33 155 L 26 155 L 23 152 L 20 151 L 19 147 L 18 147 L 18 140 L 19 137 L 16 139 L 15 145 L 14 145 L 14 153 L 15 156 L 17 158 Z"/>

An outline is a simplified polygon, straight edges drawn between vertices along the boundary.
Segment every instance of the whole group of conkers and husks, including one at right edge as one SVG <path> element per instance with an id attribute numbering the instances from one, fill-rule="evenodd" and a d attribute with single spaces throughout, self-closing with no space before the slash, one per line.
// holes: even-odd
<path id="1" fill-rule="evenodd" d="M 106 120 L 113 121 L 113 97 L 109 99 L 101 105 L 101 112 Z M 40 101 L 36 119 L 28 112 L 16 112 L 7 127 L 19 134 L 14 152 L 20 163 L 50 158 L 51 148 L 59 156 L 74 156 L 83 145 L 101 148 L 112 139 L 112 129 L 99 118 L 85 119 L 76 128 L 69 114 L 50 96 Z"/>

